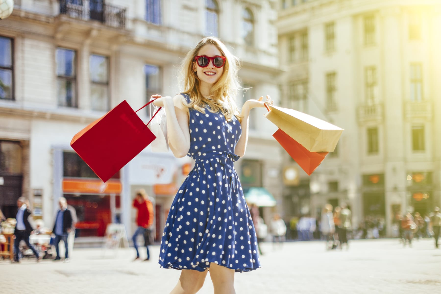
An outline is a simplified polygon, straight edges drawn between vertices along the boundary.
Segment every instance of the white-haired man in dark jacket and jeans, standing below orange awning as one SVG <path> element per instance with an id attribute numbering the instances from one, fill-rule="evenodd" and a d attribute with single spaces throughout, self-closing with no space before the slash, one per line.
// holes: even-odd
<path id="1" fill-rule="evenodd" d="M 67 236 L 72 230 L 72 214 L 71 211 L 67 209 L 66 198 L 60 197 L 58 203 L 60 204 L 60 209 L 56 213 L 55 223 L 52 229 L 52 233 L 55 234 L 55 260 L 59 261 L 61 259 L 60 248 L 58 244 L 61 240 L 63 240 L 64 247 L 66 248 L 66 253 L 64 254 L 64 262 L 69 262 L 69 247 L 67 246 Z"/>

